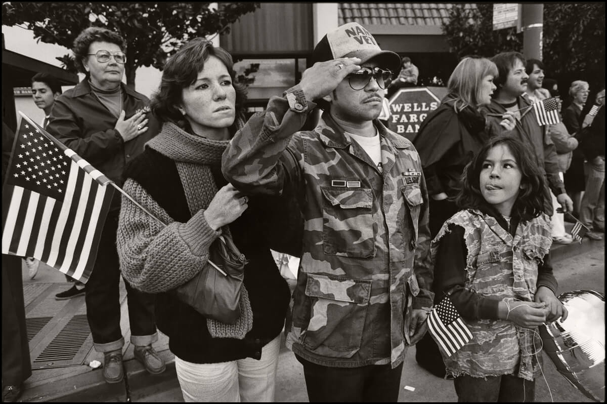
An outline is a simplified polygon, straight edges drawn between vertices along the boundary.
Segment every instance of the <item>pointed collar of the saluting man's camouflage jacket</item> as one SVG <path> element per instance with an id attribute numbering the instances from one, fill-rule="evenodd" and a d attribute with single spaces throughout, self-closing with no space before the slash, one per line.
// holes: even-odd
<path id="1" fill-rule="evenodd" d="M 413 149 L 413 143 L 409 139 L 390 131 L 378 119 L 373 120 L 373 126 L 378 129 L 381 137 L 389 140 L 397 149 Z M 337 125 L 328 111 L 322 113 L 314 131 L 320 134 L 320 142 L 327 147 L 345 149 L 352 144 L 345 136 L 344 129 Z"/>

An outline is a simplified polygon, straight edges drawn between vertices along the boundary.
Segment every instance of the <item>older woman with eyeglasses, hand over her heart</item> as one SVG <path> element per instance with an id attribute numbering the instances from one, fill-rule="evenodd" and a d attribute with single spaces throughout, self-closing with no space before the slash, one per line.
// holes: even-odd
<path id="1" fill-rule="evenodd" d="M 121 185 L 124 166 L 143 152 L 143 145 L 158 132 L 148 114 L 149 100 L 121 83 L 124 75 L 124 40 L 115 32 L 89 27 L 78 35 L 73 53 L 86 77 L 61 95 L 50 112 L 47 131 L 87 160 L 110 180 Z M 101 233 L 95 267 L 86 284 L 86 310 L 93 345 L 104 353 L 103 376 L 108 383 L 123 380 L 120 329 L 120 262 L 116 231 L 120 193 L 114 194 Z M 164 371 L 164 362 L 152 348 L 158 340 L 154 295 L 124 282 L 135 358 L 152 374 Z M 55 296 L 65 300 L 84 293 L 72 286 Z"/>

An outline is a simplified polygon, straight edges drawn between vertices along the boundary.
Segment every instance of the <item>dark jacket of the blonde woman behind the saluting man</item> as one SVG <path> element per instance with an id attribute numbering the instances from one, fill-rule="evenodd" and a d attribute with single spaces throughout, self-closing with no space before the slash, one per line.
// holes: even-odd
<path id="1" fill-rule="evenodd" d="M 419 152 L 429 195 L 441 192 L 453 200 L 461 188 L 464 166 L 489 137 L 485 118 L 467 107 L 455 112 L 445 100 L 419 128 L 413 146 Z"/>

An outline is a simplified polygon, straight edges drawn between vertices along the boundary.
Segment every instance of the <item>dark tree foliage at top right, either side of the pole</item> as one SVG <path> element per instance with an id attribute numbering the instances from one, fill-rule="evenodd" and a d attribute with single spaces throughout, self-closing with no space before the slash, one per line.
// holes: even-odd
<path id="1" fill-rule="evenodd" d="M 490 57 L 508 50 L 523 51 L 523 33 L 516 28 L 493 30 L 493 4 L 456 4 L 443 25 L 447 43 L 458 57 Z M 605 84 L 605 3 L 544 3 L 543 62 L 557 78 L 561 93 L 572 80 L 595 88 Z M 594 84 L 593 84 L 594 83 Z"/>

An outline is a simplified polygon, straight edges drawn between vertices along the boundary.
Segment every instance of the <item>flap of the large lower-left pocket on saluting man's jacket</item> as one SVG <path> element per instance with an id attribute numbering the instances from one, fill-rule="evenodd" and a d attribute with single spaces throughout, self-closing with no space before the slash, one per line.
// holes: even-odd
<path id="1" fill-rule="evenodd" d="M 316 298 L 366 304 L 371 295 L 371 281 L 308 273 L 305 294 Z"/>

